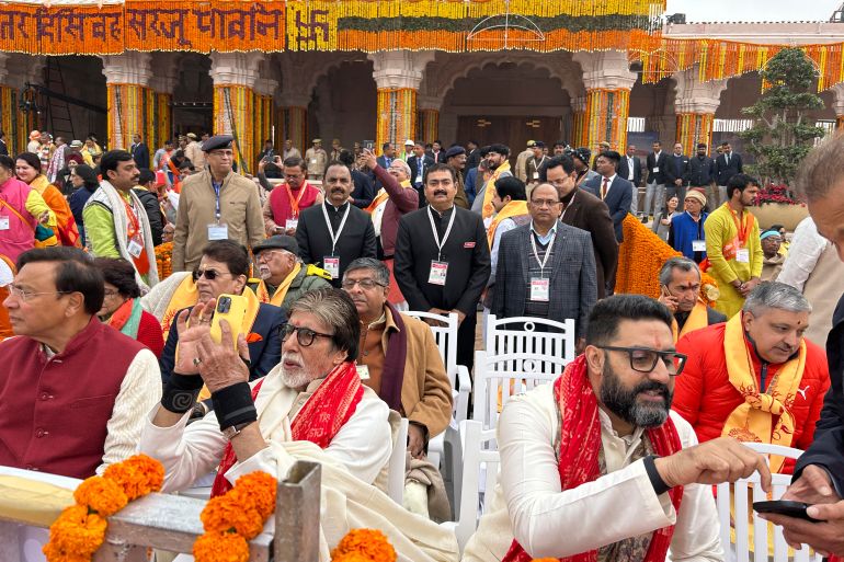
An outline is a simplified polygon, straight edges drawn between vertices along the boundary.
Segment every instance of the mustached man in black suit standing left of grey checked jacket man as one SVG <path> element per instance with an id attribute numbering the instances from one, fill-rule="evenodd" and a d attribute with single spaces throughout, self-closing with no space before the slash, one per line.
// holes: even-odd
<path id="1" fill-rule="evenodd" d="M 399 220 L 394 257 L 396 282 L 410 310 L 456 312 L 457 363 L 471 371 L 478 301 L 491 267 L 480 215 L 457 207 L 456 175 L 447 164 L 425 174 L 429 207 Z"/>

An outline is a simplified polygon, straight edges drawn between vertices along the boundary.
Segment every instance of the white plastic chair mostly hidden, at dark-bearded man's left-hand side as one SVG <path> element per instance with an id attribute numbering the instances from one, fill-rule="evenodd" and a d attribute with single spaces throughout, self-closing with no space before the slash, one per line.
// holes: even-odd
<path id="1" fill-rule="evenodd" d="M 457 544 L 463 554 L 469 537 L 478 528 L 478 519 L 483 514 L 489 501 L 481 502 L 481 473 L 486 472 L 484 489 L 490 493 L 495 489 L 500 457 L 492 447 L 494 429 L 483 429 L 480 422 L 464 420 L 460 422 L 460 441 L 463 445 L 463 481 L 459 497 L 455 498 L 455 520 L 441 524 L 457 537 Z M 484 470 L 481 470 L 484 469 Z"/>

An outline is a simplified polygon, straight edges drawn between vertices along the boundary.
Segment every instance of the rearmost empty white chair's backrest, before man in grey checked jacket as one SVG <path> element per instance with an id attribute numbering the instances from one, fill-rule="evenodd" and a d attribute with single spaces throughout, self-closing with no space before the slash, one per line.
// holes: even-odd
<path id="1" fill-rule="evenodd" d="M 563 322 L 545 318 L 487 317 L 484 346 L 490 355 L 535 353 L 574 360 L 574 320 Z"/>

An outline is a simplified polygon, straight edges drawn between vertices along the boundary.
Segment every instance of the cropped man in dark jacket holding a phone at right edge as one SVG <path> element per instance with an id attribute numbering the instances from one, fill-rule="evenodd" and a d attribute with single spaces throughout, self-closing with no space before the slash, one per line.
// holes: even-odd
<path id="1" fill-rule="evenodd" d="M 806 195 L 818 232 L 835 244 L 844 261 L 844 173 L 840 165 L 844 138 L 830 137 L 803 159 L 797 190 Z M 720 157 L 719 157 L 720 158 Z M 784 515 L 763 517 L 782 525 L 789 544 L 807 543 L 823 555 L 844 557 L 844 297 L 839 301 L 826 339 L 826 360 L 832 383 L 814 428 L 814 441 L 795 467 L 783 500 L 805 502 L 809 523 Z M 819 505 L 820 504 L 820 505 Z"/>

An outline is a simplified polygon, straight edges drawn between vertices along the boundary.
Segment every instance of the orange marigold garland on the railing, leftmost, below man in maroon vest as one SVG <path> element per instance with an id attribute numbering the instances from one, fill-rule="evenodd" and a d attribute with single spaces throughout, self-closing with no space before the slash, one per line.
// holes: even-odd
<path id="1" fill-rule="evenodd" d="M 73 492 L 76 505 L 50 525 L 42 549 L 48 562 L 90 562 L 105 540 L 106 517 L 133 500 L 161 489 L 164 468 L 146 455 L 129 457 L 105 469 L 102 477 L 85 479 Z"/>

